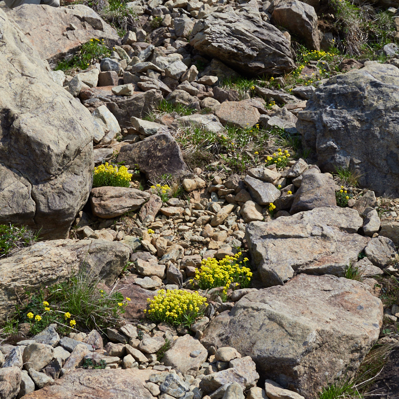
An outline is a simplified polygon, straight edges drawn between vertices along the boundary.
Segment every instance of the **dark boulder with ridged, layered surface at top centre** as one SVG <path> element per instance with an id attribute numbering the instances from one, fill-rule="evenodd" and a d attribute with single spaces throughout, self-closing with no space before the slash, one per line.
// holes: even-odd
<path id="1" fill-rule="evenodd" d="M 213 12 L 193 28 L 190 44 L 245 74 L 282 74 L 294 69 L 289 40 L 256 13 Z"/>

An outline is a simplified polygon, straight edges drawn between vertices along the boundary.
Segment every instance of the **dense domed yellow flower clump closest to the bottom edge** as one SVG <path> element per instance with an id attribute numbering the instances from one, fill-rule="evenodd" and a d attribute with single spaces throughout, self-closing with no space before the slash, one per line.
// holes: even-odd
<path id="1" fill-rule="evenodd" d="M 148 318 L 170 324 L 191 325 L 203 314 L 206 298 L 197 291 L 159 290 L 154 299 L 148 298 Z"/>

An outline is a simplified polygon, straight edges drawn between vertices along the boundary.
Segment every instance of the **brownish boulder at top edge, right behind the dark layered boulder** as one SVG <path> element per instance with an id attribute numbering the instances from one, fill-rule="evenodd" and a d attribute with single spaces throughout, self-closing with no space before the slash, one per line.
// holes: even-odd
<path id="1" fill-rule="evenodd" d="M 312 5 L 299 0 L 274 0 L 271 14 L 278 26 L 302 37 L 308 48 L 320 50 L 317 14 Z"/>

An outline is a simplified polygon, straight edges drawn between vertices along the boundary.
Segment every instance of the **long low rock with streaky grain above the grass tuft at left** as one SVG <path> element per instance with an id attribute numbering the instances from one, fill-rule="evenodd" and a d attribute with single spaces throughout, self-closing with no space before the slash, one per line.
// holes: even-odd
<path id="1" fill-rule="evenodd" d="M 90 276 L 112 283 L 127 264 L 130 248 L 103 240 L 41 241 L 0 260 L 0 323 L 26 289 L 44 288 L 84 267 Z"/>

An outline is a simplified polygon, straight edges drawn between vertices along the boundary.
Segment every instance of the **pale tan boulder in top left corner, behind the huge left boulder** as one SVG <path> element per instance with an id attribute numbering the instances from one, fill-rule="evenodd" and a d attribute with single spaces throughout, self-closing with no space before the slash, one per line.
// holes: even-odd
<path id="1" fill-rule="evenodd" d="M 113 27 L 83 4 L 60 8 L 23 4 L 13 9 L 4 8 L 4 11 L 19 25 L 40 58 L 46 59 L 52 68 L 92 38 L 105 39 L 108 45 L 121 41 Z"/>

